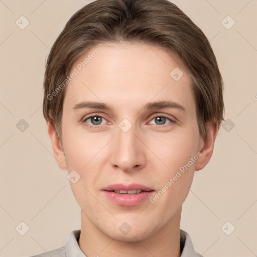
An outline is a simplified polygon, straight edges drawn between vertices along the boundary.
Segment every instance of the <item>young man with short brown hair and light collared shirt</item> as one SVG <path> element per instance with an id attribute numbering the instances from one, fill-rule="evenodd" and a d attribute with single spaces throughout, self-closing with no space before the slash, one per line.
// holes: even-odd
<path id="1" fill-rule="evenodd" d="M 224 111 L 202 31 L 167 0 L 97 0 L 54 43 L 44 89 L 81 229 L 36 256 L 200 256 L 180 229 L 182 204 Z"/>

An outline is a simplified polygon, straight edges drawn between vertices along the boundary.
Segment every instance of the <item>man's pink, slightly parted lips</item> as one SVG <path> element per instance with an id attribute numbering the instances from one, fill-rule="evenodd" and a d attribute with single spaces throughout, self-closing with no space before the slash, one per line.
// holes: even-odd
<path id="1" fill-rule="evenodd" d="M 119 194 L 115 192 L 110 192 L 111 190 L 135 190 L 135 189 L 141 189 L 144 190 L 137 194 Z M 113 203 L 121 206 L 136 206 L 145 200 L 149 199 L 151 195 L 155 192 L 153 189 L 146 187 L 141 184 L 114 184 L 107 186 L 102 189 L 104 195 L 111 200 Z"/>

